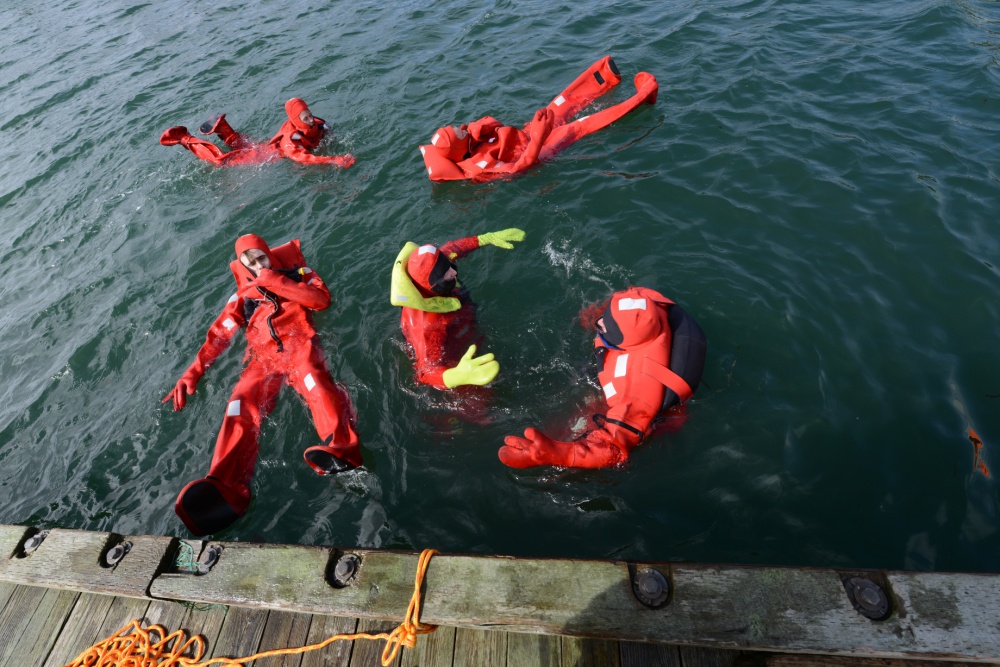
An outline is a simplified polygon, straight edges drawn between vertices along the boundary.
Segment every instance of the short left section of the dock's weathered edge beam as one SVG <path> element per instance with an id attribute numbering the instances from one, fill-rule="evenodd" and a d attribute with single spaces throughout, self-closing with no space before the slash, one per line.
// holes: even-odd
<path id="1" fill-rule="evenodd" d="M 104 556 L 122 541 L 131 551 L 116 565 Z M 174 539 L 52 529 L 33 552 L 0 561 L 0 580 L 47 588 L 145 597 Z"/>

